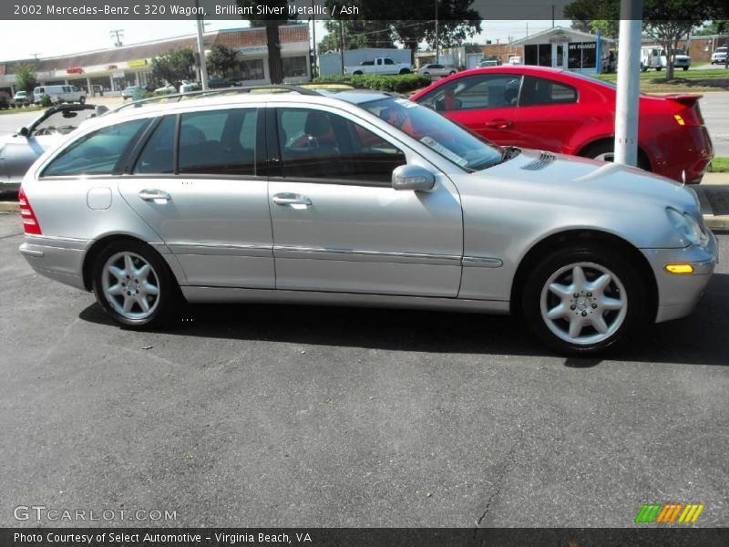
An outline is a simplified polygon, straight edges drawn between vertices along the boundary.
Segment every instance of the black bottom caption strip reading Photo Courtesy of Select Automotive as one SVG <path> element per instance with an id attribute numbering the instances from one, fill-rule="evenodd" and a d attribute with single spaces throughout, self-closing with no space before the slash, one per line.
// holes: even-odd
<path id="1" fill-rule="evenodd" d="M 691 526 L 691 525 L 689 525 Z M 729 529 L 672 528 L 37 528 L 0 529 L 3 547 L 689 547 Z"/>

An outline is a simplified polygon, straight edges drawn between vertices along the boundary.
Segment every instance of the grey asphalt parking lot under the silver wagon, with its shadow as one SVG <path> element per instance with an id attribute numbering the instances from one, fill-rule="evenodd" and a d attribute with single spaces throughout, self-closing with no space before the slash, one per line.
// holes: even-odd
<path id="1" fill-rule="evenodd" d="M 696 313 L 604 360 L 518 319 L 209 305 L 133 333 L 37 276 L 0 215 L 0 526 L 17 506 L 175 511 L 168 526 L 729 521 L 729 235 Z M 122 520 L 123 519 L 123 520 Z"/>

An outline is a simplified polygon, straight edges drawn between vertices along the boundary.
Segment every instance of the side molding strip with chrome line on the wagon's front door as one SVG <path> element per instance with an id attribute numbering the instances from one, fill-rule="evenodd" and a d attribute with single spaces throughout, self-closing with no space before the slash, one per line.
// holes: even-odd
<path id="1" fill-rule="evenodd" d="M 395 251 L 369 251 L 366 249 L 335 249 L 326 247 L 304 247 L 299 245 L 274 245 L 276 258 L 302 258 L 313 260 L 346 260 L 352 262 L 390 262 L 390 263 L 460 263 L 461 257 L 455 254 L 400 253 Z"/>

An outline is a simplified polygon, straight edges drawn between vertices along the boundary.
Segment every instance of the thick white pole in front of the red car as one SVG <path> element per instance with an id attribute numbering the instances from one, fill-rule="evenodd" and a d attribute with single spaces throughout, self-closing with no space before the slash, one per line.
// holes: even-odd
<path id="1" fill-rule="evenodd" d="M 615 163 L 638 163 L 643 0 L 621 0 L 618 92 L 615 98 Z"/>

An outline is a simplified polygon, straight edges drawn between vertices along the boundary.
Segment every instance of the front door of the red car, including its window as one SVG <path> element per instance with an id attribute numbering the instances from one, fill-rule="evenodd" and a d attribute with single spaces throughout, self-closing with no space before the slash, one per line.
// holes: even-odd
<path id="1" fill-rule="evenodd" d="M 449 119 L 497 144 L 519 142 L 518 74 L 477 74 L 459 77 L 418 98 Z"/>

